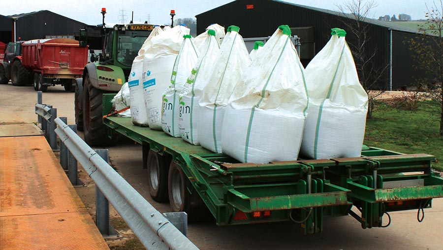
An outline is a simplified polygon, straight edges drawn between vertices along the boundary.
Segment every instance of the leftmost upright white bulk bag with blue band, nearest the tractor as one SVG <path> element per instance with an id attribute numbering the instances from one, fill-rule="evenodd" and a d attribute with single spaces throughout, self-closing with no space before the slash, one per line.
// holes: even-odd
<path id="1" fill-rule="evenodd" d="M 145 100 L 143 97 L 143 59 L 146 49 L 151 46 L 153 37 L 158 36 L 163 30 L 157 26 L 151 34 L 146 38 L 142 47 L 138 51 L 138 56 L 132 62 L 131 73 L 129 74 L 128 86 L 131 103 L 132 123 L 139 126 L 148 126 L 148 116 L 146 114 Z"/>

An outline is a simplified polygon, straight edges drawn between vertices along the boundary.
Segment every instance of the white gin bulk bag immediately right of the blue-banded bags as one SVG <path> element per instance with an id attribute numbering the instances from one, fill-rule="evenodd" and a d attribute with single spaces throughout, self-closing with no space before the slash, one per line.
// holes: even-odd
<path id="1" fill-rule="evenodd" d="M 198 50 L 192 44 L 192 36 L 183 36 L 180 52 L 175 59 L 174 69 L 171 75 L 171 85 L 163 94 L 161 110 L 161 128 L 166 134 L 173 137 L 180 137 L 179 129 L 179 94 L 188 80 L 192 66 L 197 62 Z"/>

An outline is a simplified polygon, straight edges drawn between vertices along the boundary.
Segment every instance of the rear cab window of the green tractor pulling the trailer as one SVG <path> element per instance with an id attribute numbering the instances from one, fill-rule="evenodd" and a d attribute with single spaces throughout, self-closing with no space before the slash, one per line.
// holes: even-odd
<path id="1" fill-rule="evenodd" d="M 117 61 L 125 66 L 131 66 L 138 51 L 151 32 L 127 31 L 119 33 L 117 47 Z"/>

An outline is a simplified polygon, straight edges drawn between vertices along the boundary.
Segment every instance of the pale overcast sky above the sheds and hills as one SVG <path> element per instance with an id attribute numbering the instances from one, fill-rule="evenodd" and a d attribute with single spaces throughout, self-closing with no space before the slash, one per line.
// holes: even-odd
<path id="1" fill-rule="evenodd" d="M 134 21 L 146 21 L 150 16 L 153 24 L 170 23 L 170 10 L 175 9 L 177 18 L 195 17 L 195 15 L 221 6 L 232 0 L 1 0 L 1 15 L 13 15 L 28 13 L 38 10 L 50 10 L 60 15 L 77 21 L 97 25 L 101 24 L 101 8 L 105 7 L 107 23 L 118 23 L 121 10 L 125 10 L 126 19 L 131 19 L 134 11 Z M 302 5 L 313 6 L 338 11 L 337 4 L 343 4 L 349 0 L 285 0 Z M 18 2 L 20 4 L 18 4 Z M 413 20 L 423 19 L 426 11 L 425 4 L 433 4 L 433 0 L 376 0 L 378 6 L 374 8 L 371 17 L 400 13 L 411 15 Z M 17 4 L 16 4 L 17 3 Z M 88 4 L 85 4 L 88 3 Z M 226 13 L 228 14 L 228 13 Z"/>

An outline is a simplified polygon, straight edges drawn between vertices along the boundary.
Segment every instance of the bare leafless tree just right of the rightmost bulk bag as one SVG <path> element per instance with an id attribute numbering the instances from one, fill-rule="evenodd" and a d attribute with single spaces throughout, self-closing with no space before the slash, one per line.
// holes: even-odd
<path id="1" fill-rule="evenodd" d="M 375 61 L 378 48 L 368 46 L 373 38 L 369 34 L 372 19 L 368 16 L 370 11 L 377 7 L 377 3 L 375 0 L 349 0 L 337 7 L 343 14 L 345 30 L 348 36 L 351 36 L 351 39 L 348 39 L 348 45 L 354 57 L 360 83 L 368 94 L 367 118 L 370 119 L 376 107 L 377 97 L 385 91 L 385 87 L 381 87 L 380 82 L 386 80 L 385 73 L 389 67 L 388 63 L 378 64 Z"/>

